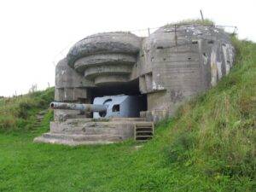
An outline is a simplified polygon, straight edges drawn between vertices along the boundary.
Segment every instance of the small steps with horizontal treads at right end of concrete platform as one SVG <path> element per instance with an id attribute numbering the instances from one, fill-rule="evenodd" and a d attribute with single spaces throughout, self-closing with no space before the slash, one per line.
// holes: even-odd
<path id="1" fill-rule="evenodd" d="M 134 140 L 137 142 L 146 142 L 154 136 L 153 122 L 137 122 L 134 125 Z"/>

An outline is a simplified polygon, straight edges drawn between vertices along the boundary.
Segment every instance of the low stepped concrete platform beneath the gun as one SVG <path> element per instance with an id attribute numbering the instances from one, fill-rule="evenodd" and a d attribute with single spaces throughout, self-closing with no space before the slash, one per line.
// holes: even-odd
<path id="1" fill-rule="evenodd" d="M 82 144 L 119 143 L 134 137 L 136 123 L 143 118 L 67 119 L 50 122 L 50 131 L 34 138 L 34 143 Z"/>

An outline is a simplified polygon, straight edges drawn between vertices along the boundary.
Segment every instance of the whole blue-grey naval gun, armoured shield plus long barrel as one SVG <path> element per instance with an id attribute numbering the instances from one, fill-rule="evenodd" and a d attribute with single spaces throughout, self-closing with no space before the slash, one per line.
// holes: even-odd
<path id="1" fill-rule="evenodd" d="M 146 109 L 142 96 L 102 96 L 96 97 L 93 104 L 51 102 L 50 108 L 62 110 L 79 110 L 82 113 L 93 113 L 99 118 L 135 118 Z"/>

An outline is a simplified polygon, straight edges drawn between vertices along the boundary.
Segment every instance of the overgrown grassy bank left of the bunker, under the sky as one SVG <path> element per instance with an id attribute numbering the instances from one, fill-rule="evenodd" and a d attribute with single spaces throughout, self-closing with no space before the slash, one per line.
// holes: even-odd
<path id="1" fill-rule="evenodd" d="M 48 108 L 54 100 L 54 88 L 32 91 L 24 96 L 0 100 L 0 131 L 30 130 L 36 123 L 36 113 Z"/>

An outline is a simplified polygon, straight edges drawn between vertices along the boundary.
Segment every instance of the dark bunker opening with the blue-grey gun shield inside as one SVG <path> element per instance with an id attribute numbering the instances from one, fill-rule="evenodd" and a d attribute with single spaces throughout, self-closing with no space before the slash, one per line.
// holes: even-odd
<path id="1" fill-rule="evenodd" d="M 92 104 L 108 108 L 106 113 L 93 113 L 93 118 L 138 118 L 141 111 L 147 111 L 147 95 L 141 94 L 138 80 L 98 86 L 90 93 Z"/>

